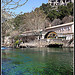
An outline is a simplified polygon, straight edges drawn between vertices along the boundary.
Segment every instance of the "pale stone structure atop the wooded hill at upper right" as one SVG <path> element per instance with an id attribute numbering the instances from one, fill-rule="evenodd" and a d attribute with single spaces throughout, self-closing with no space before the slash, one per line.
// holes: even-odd
<path id="1" fill-rule="evenodd" d="M 67 5 L 70 2 L 74 3 L 74 0 L 48 0 L 51 6 Z"/>

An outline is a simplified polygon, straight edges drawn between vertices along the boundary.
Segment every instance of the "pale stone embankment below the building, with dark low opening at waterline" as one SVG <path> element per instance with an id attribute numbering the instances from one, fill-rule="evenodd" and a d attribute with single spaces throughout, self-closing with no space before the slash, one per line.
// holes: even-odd
<path id="1" fill-rule="evenodd" d="M 70 45 L 68 45 L 67 43 L 64 42 L 60 42 L 60 43 L 56 43 L 56 42 L 47 42 L 47 41 L 34 41 L 34 42 L 29 42 L 29 43 L 21 43 L 19 45 L 19 48 L 33 48 L 33 47 L 63 47 L 63 48 L 73 48 L 74 47 L 74 43 L 71 43 Z"/>

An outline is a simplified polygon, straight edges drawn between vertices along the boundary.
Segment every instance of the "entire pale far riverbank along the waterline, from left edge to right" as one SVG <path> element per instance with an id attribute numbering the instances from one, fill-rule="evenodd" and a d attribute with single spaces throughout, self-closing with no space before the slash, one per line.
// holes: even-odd
<path id="1" fill-rule="evenodd" d="M 50 41 L 47 40 L 34 40 L 30 42 L 21 42 L 20 44 L 17 44 L 14 46 L 14 44 L 10 45 L 2 45 L 5 47 L 12 47 L 12 48 L 34 48 L 34 47 L 63 47 L 63 48 L 74 48 L 74 40 L 69 43 L 69 40 L 57 40 L 57 39 L 50 39 Z"/>

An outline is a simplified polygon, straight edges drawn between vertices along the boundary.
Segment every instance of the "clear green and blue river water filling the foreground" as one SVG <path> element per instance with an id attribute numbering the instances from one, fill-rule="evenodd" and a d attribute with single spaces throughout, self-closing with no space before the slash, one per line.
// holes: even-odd
<path id="1" fill-rule="evenodd" d="M 73 75 L 73 48 L 2 50 L 2 75 Z"/>

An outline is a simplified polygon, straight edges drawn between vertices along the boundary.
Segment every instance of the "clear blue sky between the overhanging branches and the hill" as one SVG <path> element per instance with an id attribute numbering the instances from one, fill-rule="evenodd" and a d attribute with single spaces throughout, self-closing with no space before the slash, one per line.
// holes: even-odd
<path id="1" fill-rule="evenodd" d="M 21 3 L 23 2 L 24 0 L 21 0 Z M 42 3 L 46 4 L 48 3 L 48 0 L 28 0 L 28 2 L 25 5 L 12 11 L 15 12 L 16 14 L 19 14 L 20 12 L 23 12 L 23 13 L 31 12 L 35 8 L 40 7 Z"/>

